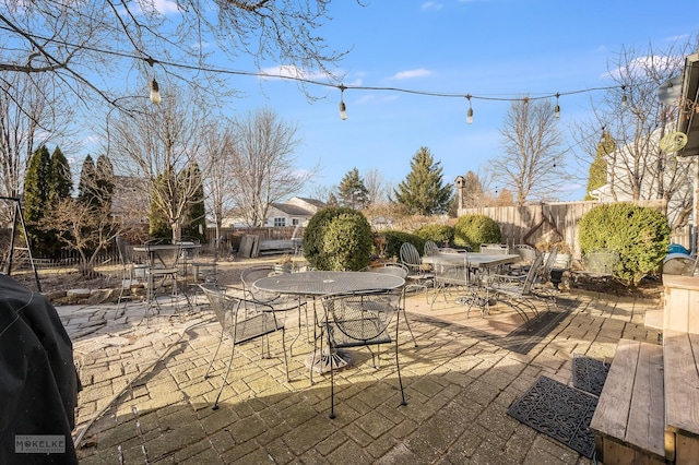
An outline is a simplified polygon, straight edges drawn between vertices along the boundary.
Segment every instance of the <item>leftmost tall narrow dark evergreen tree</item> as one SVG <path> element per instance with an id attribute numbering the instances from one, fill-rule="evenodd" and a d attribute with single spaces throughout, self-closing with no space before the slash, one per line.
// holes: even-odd
<path id="1" fill-rule="evenodd" d="M 38 147 L 29 158 L 24 177 L 24 219 L 28 240 L 35 257 L 48 257 L 46 234 L 42 230 L 42 220 L 50 212 L 48 204 L 51 156 L 46 145 Z"/>

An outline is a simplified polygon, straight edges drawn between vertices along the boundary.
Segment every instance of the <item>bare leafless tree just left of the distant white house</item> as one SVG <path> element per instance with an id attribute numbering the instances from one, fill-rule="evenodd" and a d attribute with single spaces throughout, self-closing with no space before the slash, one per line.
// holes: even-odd
<path id="1" fill-rule="evenodd" d="M 280 120 L 271 109 L 248 112 L 236 131 L 229 166 L 237 182 L 235 214 L 248 226 L 262 226 L 270 204 L 300 191 L 318 167 L 301 171 L 294 165 L 300 143 L 297 127 Z"/>

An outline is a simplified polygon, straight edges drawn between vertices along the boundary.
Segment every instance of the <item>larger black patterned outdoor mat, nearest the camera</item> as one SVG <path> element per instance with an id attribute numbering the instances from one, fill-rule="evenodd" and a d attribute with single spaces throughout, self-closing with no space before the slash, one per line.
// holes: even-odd
<path id="1" fill-rule="evenodd" d="M 590 421 L 596 406 L 594 395 L 542 375 L 507 413 L 591 458 L 594 434 Z"/>

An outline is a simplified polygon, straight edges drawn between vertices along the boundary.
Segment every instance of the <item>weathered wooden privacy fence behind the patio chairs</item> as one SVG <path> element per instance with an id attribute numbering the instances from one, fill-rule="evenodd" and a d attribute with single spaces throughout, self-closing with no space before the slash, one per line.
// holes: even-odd
<path id="1" fill-rule="evenodd" d="M 459 216 L 481 214 L 493 218 L 502 231 L 503 242 L 510 247 L 516 243 L 534 246 L 543 240 L 552 242 L 564 241 L 570 246 L 574 258 L 581 257 L 580 251 L 580 218 L 600 205 L 600 202 L 561 202 L 544 203 L 526 206 L 488 206 L 477 208 L 461 208 Z M 641 202 L 639 205 L 656 207 L 664 211 L 661 201 Z M 671 242 L 689 247 L 689 227 L 685 226 L 673 231 Z"/>

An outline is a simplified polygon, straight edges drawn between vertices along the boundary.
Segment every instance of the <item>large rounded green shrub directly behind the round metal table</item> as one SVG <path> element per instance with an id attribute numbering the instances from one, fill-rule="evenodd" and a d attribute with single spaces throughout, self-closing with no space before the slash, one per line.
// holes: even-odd
<path id="1" fill-rule="evenodd" d="M 304 230 L 304 257 L 316 270 L 358 271 L 369 264 L 374 234 L 356 210 L 329 207 L 316 213 Z"/>

